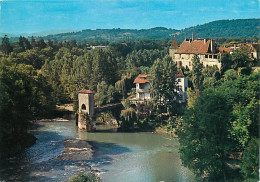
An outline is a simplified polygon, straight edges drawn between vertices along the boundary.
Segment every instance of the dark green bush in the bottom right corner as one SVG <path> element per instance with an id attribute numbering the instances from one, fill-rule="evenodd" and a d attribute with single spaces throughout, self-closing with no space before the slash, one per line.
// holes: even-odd
<path id="1" fill-rule="evenodd" d="M 259 180 L 259 139 L 249 141 L 241 159 L 241 171 L 246 180 Z"/>

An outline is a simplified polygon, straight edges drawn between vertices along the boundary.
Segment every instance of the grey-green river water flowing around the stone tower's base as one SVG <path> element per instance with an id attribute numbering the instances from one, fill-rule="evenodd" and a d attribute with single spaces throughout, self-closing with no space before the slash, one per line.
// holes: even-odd
<path id="1" fill-rule="evenodd" d="M 177 139 L 167 135 L 120 133 L 106 126 L 98 126 L 95 133 L 78 132 L 75 120 L 39 123 L 31 132 L 37 137 L 35 145 L 0 161 L 0 181 L 64 181 L 89 172 L 89 166 L 99 169 L 105 182 L 194 181 L 194 175 L 181 165 Z M 57 159 L 66 138 L 90 141 L 94 159 Z"/>

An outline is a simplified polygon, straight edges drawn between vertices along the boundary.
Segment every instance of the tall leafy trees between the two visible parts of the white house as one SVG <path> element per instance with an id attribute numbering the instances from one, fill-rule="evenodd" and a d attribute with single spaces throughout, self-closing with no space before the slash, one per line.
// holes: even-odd
<path id="1" fill-rule="evenodd" d="M 168 113 L 173 113 L 177 99 L 175 75 L 176 66 L 169 56 L 164 57 L 163 60 L 155 60 L 149 73 L 152 102 L 154 106 L 161 103 Z"/>

